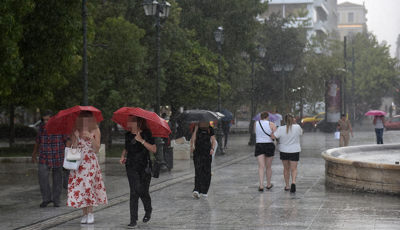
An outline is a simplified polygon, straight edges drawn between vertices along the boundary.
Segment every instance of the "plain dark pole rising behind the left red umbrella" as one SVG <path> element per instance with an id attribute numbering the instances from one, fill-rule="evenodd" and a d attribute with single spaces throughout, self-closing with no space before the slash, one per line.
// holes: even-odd
<path id="1" fill-rule="evenodd" d="M 83 73 L 83 106 L 88 106 L 88 28 L 86 26 L 88 20 L 88 8 L 86 7 L 86 0 L 82 0 L 82 42 L 83 42 L 83 52 L 82 52 L 82 73 Z"/>

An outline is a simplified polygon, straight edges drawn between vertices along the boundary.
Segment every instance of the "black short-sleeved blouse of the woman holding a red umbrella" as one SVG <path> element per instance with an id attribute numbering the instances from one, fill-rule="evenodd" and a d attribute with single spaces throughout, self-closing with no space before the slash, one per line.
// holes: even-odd
<path id="1" fill-rule="evenodd" d="M 140 136 L 150 145 L 154 145 L 154 137 L 150 131 L 142 131 Z M 125 134 L 125 149 L 128 152 L 126 155 L 125 165 L 134 166 L 138 168 L 147 167 L 150 161 L 150 154 L 148 149 L 142 145 L 139 141 L 135 140 L 136 134 L 132 134 L 130 131 Z M 135 142 L 136 143 L 132 143 Z"/>

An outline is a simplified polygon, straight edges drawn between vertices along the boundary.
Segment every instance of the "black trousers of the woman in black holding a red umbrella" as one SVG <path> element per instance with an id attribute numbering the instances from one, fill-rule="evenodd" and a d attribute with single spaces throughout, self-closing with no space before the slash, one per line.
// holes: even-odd
<path id="1" fill-rule="evenodd" d="M 144 211 L 150 212 L 151 210 L 149 194 L 151 173 L 146 173 L 144 169 L 137 169 L 137 167 L 130 165 L 125 165 L 125 168 L 130 188 L 130 220 L 138 220 L 139 198 L 143 202 Z"/>

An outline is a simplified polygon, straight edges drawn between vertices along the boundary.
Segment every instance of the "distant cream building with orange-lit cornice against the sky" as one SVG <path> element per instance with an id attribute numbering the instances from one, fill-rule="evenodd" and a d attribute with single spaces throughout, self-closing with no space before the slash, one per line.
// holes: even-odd
<path id="1" fill-rule="evenodd" d="M 340 39 L 351 39 L 358 32 L 367 31 L 366 10 L 364 5 L 343 2 L 338 4 L 338 31 Z"/>

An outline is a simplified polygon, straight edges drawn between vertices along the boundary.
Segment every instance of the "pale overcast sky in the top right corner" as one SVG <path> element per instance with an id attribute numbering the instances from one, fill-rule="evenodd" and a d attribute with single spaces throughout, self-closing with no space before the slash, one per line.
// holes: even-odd
<path id="1" fill-rule="evenodd" d="M 400 0 L 338 0 L 338 4 L 365 2 L 368 31 L 376 35 L 379 42 L 386 40 L 390 46 L 390 56 L 395 57 L 397 37 L 400 34 Z"/>

